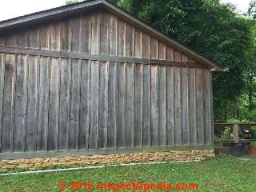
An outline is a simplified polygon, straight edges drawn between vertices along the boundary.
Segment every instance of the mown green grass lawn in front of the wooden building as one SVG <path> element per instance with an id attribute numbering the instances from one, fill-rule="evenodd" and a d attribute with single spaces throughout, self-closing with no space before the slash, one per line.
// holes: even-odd
<path id="1" fill-rule="evenodd" d="M 256 191 L 256 159 L 218 157 L 204 162 L 104 167 L 54 174 L 0 177 L 0 191 L 58 191 L 58 181 L 198 183 L 198 191 Z M 70 190 L 65 190 L 70 191 Z M 97 191 L 97 190 L 95 190 Z"/>

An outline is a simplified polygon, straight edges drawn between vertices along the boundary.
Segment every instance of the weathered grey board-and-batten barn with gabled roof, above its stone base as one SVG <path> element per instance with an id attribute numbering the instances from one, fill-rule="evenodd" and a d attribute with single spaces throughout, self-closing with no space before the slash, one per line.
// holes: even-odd
<path id="1" fill-rule="evenodd" d="M 106 0 L 0 22 L 0 159 L 213 149 L 223 70 Z"/>

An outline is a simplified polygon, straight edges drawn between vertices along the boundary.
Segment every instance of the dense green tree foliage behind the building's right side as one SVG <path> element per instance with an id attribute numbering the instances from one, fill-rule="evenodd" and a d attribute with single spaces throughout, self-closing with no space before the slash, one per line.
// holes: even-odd
<path id="1" fill-rule="evenodd" d="M 252 15 L 255 1 L 250 4 Z M 215 120 L 254 118 L 256 121 L 252 113 L 256 102 L 255 22 L 219 0 L 112 2 L 229 69 L 213 75 Z"/>

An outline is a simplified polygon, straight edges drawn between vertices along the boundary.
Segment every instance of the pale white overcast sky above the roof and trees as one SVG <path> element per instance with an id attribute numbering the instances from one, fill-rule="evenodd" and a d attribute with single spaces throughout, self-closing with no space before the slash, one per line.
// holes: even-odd
<path id="1" fill-rule="evenodd" d="M 221 0 L 231 2 L 238 6 L 238 10 L 246 12 L 250 0 Z M 57 6 L 63 6 L 65 0 L 2 0 L 0 21 L 15 18 L 24 14 L 31 14 L 40 10 L 48 10 Z"/>

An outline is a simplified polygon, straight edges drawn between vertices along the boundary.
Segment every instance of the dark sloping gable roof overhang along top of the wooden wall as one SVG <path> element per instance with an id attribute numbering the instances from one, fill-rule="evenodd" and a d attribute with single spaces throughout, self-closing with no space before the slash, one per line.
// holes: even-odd
<path id="1" fill-rule="evenodd" d="M 0 32 L 4 30 L 10 30 L 12 28 L 25 24 L 31 24 L 34 22 L 45 21 L 50 18 L 65 16 L 78 11 L 90 10 L 95 7 L 102 7 L 106 10 L 109 10 L 111 13 L 116 14 L 118 17 L 126 20 L 127 22 L 130 22 L 134 26 L 138 26 L 155 38 L 158 38 L 161 41 L 165 42 L 167 45 L 174 47 L 174 49 L 181 51 L 183 54 L 187 54 L 191 58 L 194 58 L 195 61 L 200 62 L 206 66 L 210 66 L 212 71 L 227 71 L 222 66 L 219 66 L 214 62 L 210 62 L 210 60 L 204 58 L 202 55 L 195 53 L 193 50 L 190 50 L 181 43 L 175 41 L 172 38 L 169 38 L 168 36 L 166 36 L 166 34 L 162 34 L 158 30 L 155 30 L 152 26 L 146 24 L 145 22 L 142 22 L 140 19 L 135 18 L 133 15 L 127 13 L 125 10 L 122 10 L 118 6 L 115 6 L 114 4 L 107 2 L 106 0 L 87 0 L 68 6 L 60 6 L 51 10 L 43 10 L 34 14 L 27 14 L 22 17 L 8 19 L 6 21 L 0 22 Z"/>

